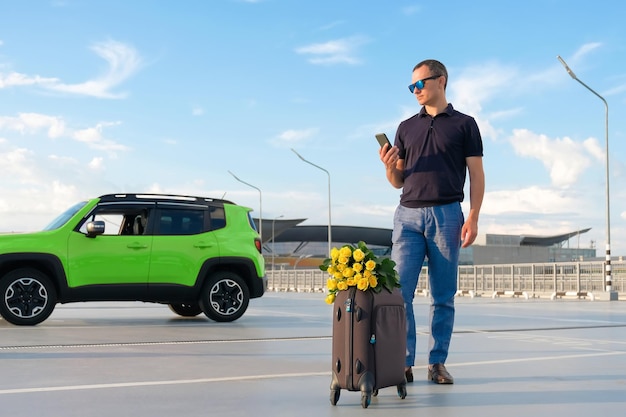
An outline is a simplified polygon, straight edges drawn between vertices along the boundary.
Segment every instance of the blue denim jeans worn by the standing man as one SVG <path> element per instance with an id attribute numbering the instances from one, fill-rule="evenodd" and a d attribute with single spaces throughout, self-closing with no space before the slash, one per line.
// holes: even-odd
<path id="1" fill-rule="evenodd" d="M 445 363 L 448 357 L 463 223 L 460 203 L 396 209 L 391 259 L 396 262 L 406 307 L 407 367 L 415 365 L 417 334 L 413 298 L 424 259 L 428 260 L 430 284 L 428 363 Z"/>

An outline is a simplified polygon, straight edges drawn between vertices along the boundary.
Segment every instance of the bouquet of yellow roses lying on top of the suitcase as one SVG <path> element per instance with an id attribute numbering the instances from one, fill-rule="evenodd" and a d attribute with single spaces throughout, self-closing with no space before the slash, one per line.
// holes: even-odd
<path id="1" fill-rule="evenodd" d="M 350 287 L 375 293 L 383 288 L 389 292 L 399 288 L 400 279 L 395 266 L 391 259 L 377 257 L 363 241 L 356 248 L 352 245 L 333 248 L 330 258 L 320 265 L 320 269 L 330 275 L 326 282 L 326 303 L 334 303 L 337 293 Z"/>

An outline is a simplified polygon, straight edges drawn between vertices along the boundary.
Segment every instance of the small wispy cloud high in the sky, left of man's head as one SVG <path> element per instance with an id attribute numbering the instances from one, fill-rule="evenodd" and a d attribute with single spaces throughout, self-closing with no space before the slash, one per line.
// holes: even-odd
<path id="1" fill-rule="evenodd" d="M 358 48 L 367 43 L 362 36 L 336 39 L 324 43 L 314 43 L 296 48 L 296 53 L 309 56 L 308 61 L 315 65 L 349 64 L 356 65 L 361 61 L 357 58 Z"/>

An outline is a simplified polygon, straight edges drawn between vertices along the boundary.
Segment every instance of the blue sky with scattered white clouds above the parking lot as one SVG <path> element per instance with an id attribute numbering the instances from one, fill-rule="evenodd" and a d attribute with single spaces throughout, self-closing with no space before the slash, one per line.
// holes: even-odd
<path id="1" fill-rule="evenodd" d="M 400 190 L 374 135 L 420 110 L 407 86 L 432 58 L 481 130 L 479 233 L 591 228 L 568 244 L 602 257 L 608 178 L 626 255 L 625 15 L 604 0 L 0 0 L 0 231 L 125 192 L 391 228 Z M 607 108 L 557 55 L 608 104 L 608 176 Z"/>

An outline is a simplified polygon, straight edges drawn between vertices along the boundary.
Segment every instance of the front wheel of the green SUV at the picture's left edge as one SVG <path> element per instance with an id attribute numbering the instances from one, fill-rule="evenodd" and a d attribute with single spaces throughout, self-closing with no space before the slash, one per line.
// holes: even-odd
<path id="1" fill-rule="evenodd" d="M 52 314 L 56 301 L 52 281 L 37 269 L 16 269 L 0 279 L 0 314 L 9 323 L 39 324 Z"/>

